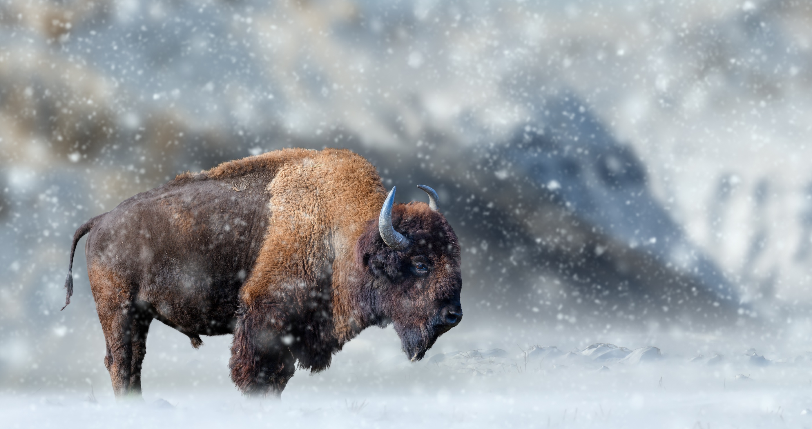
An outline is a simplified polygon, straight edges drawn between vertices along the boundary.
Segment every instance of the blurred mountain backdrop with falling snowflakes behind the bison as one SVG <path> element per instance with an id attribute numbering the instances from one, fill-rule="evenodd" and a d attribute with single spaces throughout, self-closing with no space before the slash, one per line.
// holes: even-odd
<path id="1" fill-rule="evenodd" d="M 0 388 L 109 385 L 84 240 L 59 311 L 79 225 L 287 147 L 438 191 L 466 317 L 435 347 L 806 341 L 810 130 L 802 0 L 3 0 Z M 157 325 L 145 384 L 189 349 Z M 230 385 L 230 338 L 204 341 Z"/>

